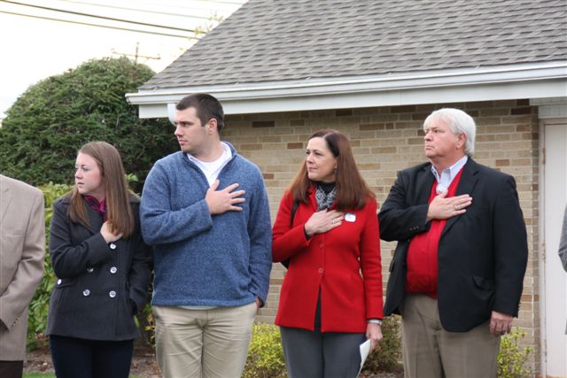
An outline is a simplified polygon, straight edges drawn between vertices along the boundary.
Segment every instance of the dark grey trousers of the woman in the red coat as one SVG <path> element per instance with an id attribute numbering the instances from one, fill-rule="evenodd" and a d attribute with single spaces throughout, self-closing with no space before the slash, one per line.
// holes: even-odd
<path id="1" fill-rule="evenodd" d="M 361 367 L 364 334 L 280 327 L 290 378 L 355 378 Z"/>

